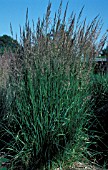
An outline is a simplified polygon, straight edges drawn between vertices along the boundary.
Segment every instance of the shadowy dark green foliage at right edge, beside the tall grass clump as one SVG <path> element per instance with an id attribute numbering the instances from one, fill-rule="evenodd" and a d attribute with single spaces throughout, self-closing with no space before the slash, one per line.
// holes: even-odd
<path id="1" fill-rule="evenodd" d="M 92 77 L 92 100 L 94 101 L 92 109 L 94 118 L 91 119 L 92 126 L 90 133 L 94 131 L 92 149 L 97 150 L 96 160 L 98 163 L 108 166 L 108 75 L 94 75 Z"/>

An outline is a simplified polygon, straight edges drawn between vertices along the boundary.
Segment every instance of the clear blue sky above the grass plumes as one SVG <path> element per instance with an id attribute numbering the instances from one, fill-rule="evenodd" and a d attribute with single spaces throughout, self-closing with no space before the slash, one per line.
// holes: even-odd
<path id="1" fill-rule="evenodd" d="M 57 11 L 61 0 L 50 0 L 52 3 L 51 17 Z M 68 0 L 63 0 L 62 11 L 66 7 Z M 19 26 L 25 24 L 26 10 L 28 8 L 29 21 L 37 23 L 38 17 L 41 19 L 45 15 L 49 0 L 0 0 L 0 36 L 11 35 L 10 23 L 12 24 L 14 38 L 20 35 Z M 108 29 L 108 0 L 69 0 L 67 18 L 71 12 L 79 14 L 84 6 L 82 18 L 87 18 L 91 22 L 98 14 L 100 15 L 103 28 L 101 35 Z"/>

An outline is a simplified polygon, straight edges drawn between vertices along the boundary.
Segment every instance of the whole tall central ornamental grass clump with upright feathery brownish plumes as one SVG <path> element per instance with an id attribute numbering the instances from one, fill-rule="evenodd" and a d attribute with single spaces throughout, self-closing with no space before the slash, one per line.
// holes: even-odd
<path id="1" fill-rule="evenodd" d="M 51 23 L 49 3 L 43 20 L 39 18 L 36 27 L 33 22 L 33 29 L 27 10 L 25 27 L 20 28 L 21 46 L 10 64 L 8 113 L 2 127 L 2 138 L 9 140 L 3 149 L 11 155 L 11 169 L 51 169 L 52 161 L 68 145 L 74 151 L 73 161 L 89 154 L 92 59 L 106 35 L 98 43 L 98 17 L 89 25 L 86 19 L 80 22 L 82 9 L 77 20 L 73 12 L 67 20 L 67 9 L 68 3 L 61 18 L 61 2 Z"/>

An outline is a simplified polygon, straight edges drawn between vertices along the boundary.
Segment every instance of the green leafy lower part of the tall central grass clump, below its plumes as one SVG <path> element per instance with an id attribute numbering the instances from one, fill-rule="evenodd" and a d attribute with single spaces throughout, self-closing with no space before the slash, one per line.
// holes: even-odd
<path id="1" fill-rule="evenodd" d="M 68 143 L 82 150 L 88 145 L 83 129 L 90 117 L 86 99 L 89 88 L 84 82 L 80 86 L 80 80 L 71 73 L 67 77 L 58 68 L 53 73 L 45 69 L 44 75 L 36 69 L 34 77 L 29 69 L 25 70 L 18 86 L 12 82 L 17 86 L 16 98 L 11 105 L 7 103 L 9 125 L 4 128 L 11 139 L 8 150 L 13 160 L 21 161 L 26 169 L 51 163 Z"/>

